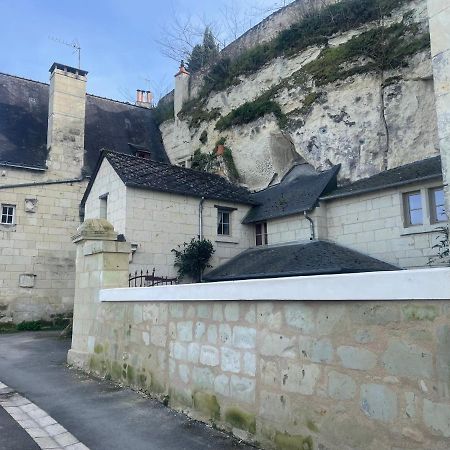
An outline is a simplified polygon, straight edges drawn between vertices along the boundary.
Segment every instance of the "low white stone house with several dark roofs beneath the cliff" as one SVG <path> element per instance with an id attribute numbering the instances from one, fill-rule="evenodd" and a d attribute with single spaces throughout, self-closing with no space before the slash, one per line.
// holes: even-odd
<path id="1" fill-rule="evenodd" d="M 105 152 L 82 200 L 133 248 L 131 270 L 176 276 L 173 248 L 216 249 L 211 281 L 426 267 L 446 223 L 439 157 L 337 188 L 339 166 L 295 166 L 250 193 L 214 174 Z"/>

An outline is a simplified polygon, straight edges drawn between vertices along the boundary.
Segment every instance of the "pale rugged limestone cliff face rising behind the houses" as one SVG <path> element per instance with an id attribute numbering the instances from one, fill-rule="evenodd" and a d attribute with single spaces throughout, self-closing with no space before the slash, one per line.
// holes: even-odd
<path id="1" fill-rule="evenodd" d="M 404 23 L 408 17 L 415 38 L 428 33 L 426 14 L 425 0 L 408 1 L 384 26 Z M 346 51 L 352 38 L 376 26 L 366 24 L 335 35 L 327 48 Z M 336 70 L 348 66 L 348 76 L 318 83 L 308 70 L 311 62 L 321 61 L 323 51 L 313 46 L 289 58 L 273 59 L 256 73 L 241 76 L 238 84 L 209 94 L 199 119 L 192 120 L 188 112 L 163 123 L 172 162 L 198 148 L 209 152 L 226 137 L 241 182 L 260 189 L 280 179 L 299 159 L 321 170 L 341 164 L 339 176 L 345 182 L 438 153 L 429 46 L 418 46 L 392 69 L 366 70 L 364 58 L 349 59 L 336 66 Z M 280 106 L 283 124 L 267 114 L 221 132 L 216 129 L 219 113 L 224 117 L 267 92 Z"/>

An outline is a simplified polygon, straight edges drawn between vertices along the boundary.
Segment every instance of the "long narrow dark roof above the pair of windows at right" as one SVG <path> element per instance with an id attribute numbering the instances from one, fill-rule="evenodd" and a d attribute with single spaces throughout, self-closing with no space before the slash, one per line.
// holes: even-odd
<path id="1" fill-rule="evenodd" d="M 421 180 L 431 180 L 442 177 L 441 157 L 423 159 L 410 164 L 406 164 L 395 169 L 380 172 L 372 177 L 355 181 L 347 186 L 342 186 L 328 195 L 321 197 L 321 200 L 331 200 L 333 198 L 348 197 L 350 195 L 364 194 L 366 192 L 388 189 L 405 184 L 411 184 Z"/>

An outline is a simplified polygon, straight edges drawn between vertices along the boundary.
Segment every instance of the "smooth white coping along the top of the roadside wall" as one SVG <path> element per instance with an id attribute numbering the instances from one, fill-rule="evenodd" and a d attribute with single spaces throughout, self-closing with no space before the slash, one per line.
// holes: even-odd
<path id="1" fill-rule="evenodd" d="M 450 268 L 102 289 L 101 302 L 450 300 Z"/>

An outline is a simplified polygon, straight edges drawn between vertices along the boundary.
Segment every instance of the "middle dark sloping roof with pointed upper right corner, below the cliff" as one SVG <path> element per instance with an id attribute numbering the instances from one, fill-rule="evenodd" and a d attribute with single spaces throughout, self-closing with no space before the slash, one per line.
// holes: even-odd
<path id="1" fill-rule="evenodd" d="M 252 208 L 244 223 L 261 222 L 277 217 L 309 211 L 319 197 L 336 187 L 336 175 L 340 166 L 315 174 L 304 174 L 292 181 L 281 182 L 252 194 L 260 205 Z"/>

